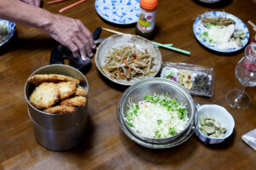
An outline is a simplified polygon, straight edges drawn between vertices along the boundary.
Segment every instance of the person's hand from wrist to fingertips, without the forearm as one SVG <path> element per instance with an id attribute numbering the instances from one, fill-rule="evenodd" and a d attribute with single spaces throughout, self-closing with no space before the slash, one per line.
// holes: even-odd
<path id="1" fill-rule="evenodd" d="M 53 20 L 43 29 L 50 37 L 69 48 L 73 57 L 76 58 L 78 54 L 81 54 L 82 59 L 86 60 L 86 56 L 93 56 L 91 48 L 96 48 L 96 45 L 90 31 L 80 20 L 54 14 Z"/>

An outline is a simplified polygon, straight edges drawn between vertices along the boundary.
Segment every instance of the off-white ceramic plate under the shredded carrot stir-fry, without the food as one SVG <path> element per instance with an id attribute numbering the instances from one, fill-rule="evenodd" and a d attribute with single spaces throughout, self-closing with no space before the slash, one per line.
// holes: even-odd
<path id="1" fill-rule="evenodd" d="M 156 65 L 154 65 L 153 67 L 153 69 L 156 70 L 156 72 L 154 74 L 151 74 L 149 77 L 155 77 L 157 73 L 160 71 L 162 65 L 162 56 L 160 54 L 159 49 L 149 40 L 143 37 L 130 34 L 113 35 L 112 37 L 108 37 L 101 43 L 101 45 L 96 51 L 95 62 L 97 69 L 102 73 L 102 75 L 107 77 L 112 82 L 116 82 L 118 84 L 125 86 L 131 86 L 132 84 L 141 81 L 142 79 L 139 78 L 136 78 L 131 81 L 116 80 L 113 77 L 109 77 L 106 73 L 104 73 L 104 71 L 102 71 L 102 66 L 105 65 L 105 57 L 109 48 L 118 48 L 120 46 L 132 46 L 133 44 L 136 44 L 139 50 L 144 51 L 145 49 L 147 49 L 149 53 L 153 54 L 157 62 Z M 144 77 L 144 79 L 147 79 L 149 77 Z"/>

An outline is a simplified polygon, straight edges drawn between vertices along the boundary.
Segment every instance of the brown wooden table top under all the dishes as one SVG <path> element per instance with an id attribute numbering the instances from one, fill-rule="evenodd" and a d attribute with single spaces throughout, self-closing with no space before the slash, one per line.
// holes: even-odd
<path id="1" fill-rule="evenodd" d="M 53 13 L 72 2 L 47 5 Z M 252 102 L 247 110 L 232 109 L 225 94 L 241 84 L 235 77 L 236 54 L 215 54 L 196 41 L 192 26 L 197 14 L 224 10 L 247 23 L 256 23 L 256 4 L 252 0 L 227 0 L 218 5 L 204 5 L 191 0 L 161 0 L 158 5 L 155 42 L 173 43 L 191 52 L 191 56 L 160 48 L 163 61 L 184 62 L 212 67 L 216 84 L 212 98 L 194 97 L 195 102 L 223 105 L 236 122 L 235 133 L 222 144 L 207 146 L 195 135 L 171 149 L 150 150 L 125 136 L 118 125 L 116 105 L 125 88 L 108 84 L 96 69 L 94 59 L 86 78 L 90 84 L 89 122 L 81 144 L 73 150 L 55 152 L 38 144 L 26 111 L 23 88 L 32 71 L 49 64 L 56 42 L 36 28 L 17 26 L 17 35 L 0 48 L 0 169 L 255 169 L 256 152 L 241 135 L 256 127 L 256 88 L 247 88 Z M 82 20 L 90 31 L 96 26 L 134 34 L 135 27 L 110 26 L 97 14 L 93 1 L 69 9 L 64 15 Z M 248 26 L 250 37 L 255 31 Z M 101 37 L 112 34 L 102 31 Z"/>

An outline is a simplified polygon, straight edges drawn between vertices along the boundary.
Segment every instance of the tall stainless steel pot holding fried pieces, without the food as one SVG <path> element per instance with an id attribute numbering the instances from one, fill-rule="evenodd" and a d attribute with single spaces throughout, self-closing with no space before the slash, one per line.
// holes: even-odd
<path id="1" fill-rule="evenodd" d="M 34 71 L 35 74 L 61 74 L 79 79 L 79 86 L 89 90 L 89 85 L 84 75 L 77 69 L 68 65 L 47 65 Z M 35 85 L 26 82 L 24 92 L 28 104 L 28 115 L 30 116 L 35 131 L 35 137 L 39 144 L 49 150 L 70 150 L 84 137 L 87 120 L 86 108 L 78 108 L 73 114 L 54 115 L 39 111 L 29 102 L 29 97 Z M 88 103 L 88 102 L 87 102 Z"/>

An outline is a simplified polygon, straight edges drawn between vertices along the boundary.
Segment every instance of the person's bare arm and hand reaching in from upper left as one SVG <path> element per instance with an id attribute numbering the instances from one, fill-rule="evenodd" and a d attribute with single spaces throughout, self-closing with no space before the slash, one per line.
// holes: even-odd
<path id="1" fill-rule="evenodd" d="M 19 0 L 0 0 L 0 18 L 46 31 L 50 37 L 70 48 L 74 57 L 79 53 L 83 59 L 92 57 L 91 48 L 96 47 L 90 31 L 80 20 L 51 14 Z"/>

